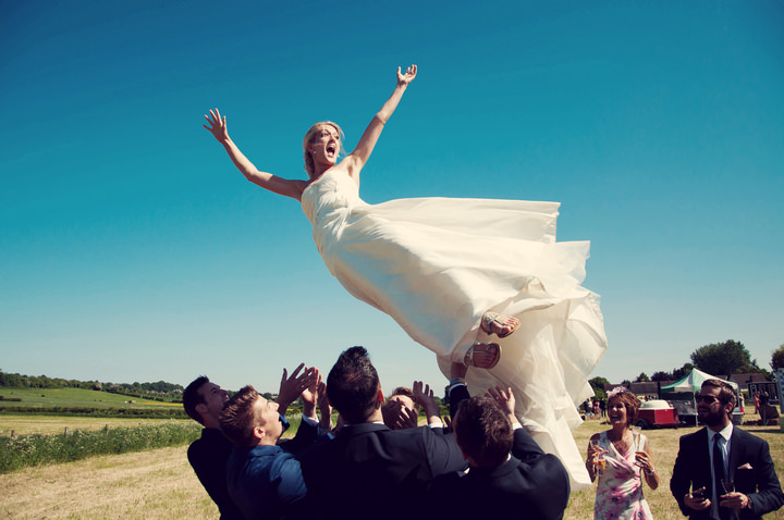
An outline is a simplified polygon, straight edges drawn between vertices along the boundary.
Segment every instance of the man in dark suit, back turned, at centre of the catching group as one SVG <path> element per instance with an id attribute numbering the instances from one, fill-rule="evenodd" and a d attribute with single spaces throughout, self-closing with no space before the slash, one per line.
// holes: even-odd
<path id="1" fill-rule="evenodd" d="M 424 507 L 436 475 L 465 466 L 454 436 L 443 428 L 391 430 L 383 424 L 383 391 L 365 348 L 341 354 L 327 379 L 327 396 L 345 425 L 334 439 L 299 458 L 308 497 L 316 507 L 330 504 L 328 518 L 400 519 L 411 513 L 409 505 Z M 403 509 L 399 499 L 406 504 Z"/>

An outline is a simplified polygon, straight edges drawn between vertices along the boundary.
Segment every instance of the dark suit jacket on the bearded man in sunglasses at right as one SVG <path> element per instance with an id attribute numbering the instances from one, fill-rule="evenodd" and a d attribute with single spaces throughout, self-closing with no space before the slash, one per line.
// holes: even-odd
<path id="1" fill-rule="evenodd" d="M 712 490 L 711 462 L 708 446 L 708 429 L 681 437 L 681 446 L 673 468 L 670 491 L 681 511 L 695 520 L 710 518 L 710 509 L 695 511 L 684 504 L 684 495 L 691 488 Z M 735 482 L 735 491 L 751 498 L 751 508 L 740 510 L 740 519 L 759 519 L 784 505 L 779 479 L 773 467 L 768 443 L 737 426 L 730 438 L 728 478 Z"/>

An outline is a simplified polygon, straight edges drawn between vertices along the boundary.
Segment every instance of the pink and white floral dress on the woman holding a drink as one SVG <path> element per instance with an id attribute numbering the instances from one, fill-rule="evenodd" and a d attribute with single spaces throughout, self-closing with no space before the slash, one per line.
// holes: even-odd
<path id="1" fill-rule="evenodd" d="M 639 444 L 645 446 L 646 437 L 640 435 Z M 604 454 L 607 467 L 599 474 L 597 498 L 593 504 L 595 520 L 652 520 L 648 502 L 642 496 L 642 473 L 635 462 L 637 446 L 620 454 L 613 443 L 601 432 L 599 445 Z"/>

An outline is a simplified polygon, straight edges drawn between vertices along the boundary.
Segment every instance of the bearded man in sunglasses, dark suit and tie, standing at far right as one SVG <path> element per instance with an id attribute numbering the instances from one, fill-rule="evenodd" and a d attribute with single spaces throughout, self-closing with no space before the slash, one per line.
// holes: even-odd
<path id="1" fill-rule="evenodd" d="M 708 380 L 695 397 L 697 417 L 707 428 L 681 437 L 670 481 L 681 511 L 695 520 L 728 519 L 734 512 L 750 520 L 782 507 L 784 494 L 768 443 L 733 426 L 730 384 Z"/>

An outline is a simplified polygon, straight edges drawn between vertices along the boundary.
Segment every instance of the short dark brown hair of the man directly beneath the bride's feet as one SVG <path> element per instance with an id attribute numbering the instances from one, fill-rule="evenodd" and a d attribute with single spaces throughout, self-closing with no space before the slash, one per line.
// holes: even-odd
<path id="1" fill-rule="evenodd" d="M 512 450 L 512 423 L 490 397 L 477 395 L 461 403 L 452 428 L 463 451 L 482 467 L 502 465 Z"/>

